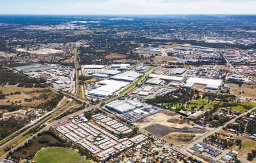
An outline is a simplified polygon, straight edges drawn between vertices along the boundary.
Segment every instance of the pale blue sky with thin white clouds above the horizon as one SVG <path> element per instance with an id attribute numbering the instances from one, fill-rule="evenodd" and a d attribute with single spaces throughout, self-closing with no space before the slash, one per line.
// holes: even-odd
<path id="1" fill-rule="evenodd" d="M 256 14 L 256 0 L 0 0 L 0 14 Z"/>

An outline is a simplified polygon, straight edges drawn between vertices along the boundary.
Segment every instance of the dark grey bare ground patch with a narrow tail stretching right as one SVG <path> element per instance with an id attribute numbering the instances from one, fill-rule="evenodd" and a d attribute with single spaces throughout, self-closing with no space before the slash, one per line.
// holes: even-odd
<path id="1" fill-rule="evenodd" d="M 168 127 L 168 126 L 159 125 L 159 124 L 150 125 L 145 127 L 144 129 L 154 134 L 155 136 L 158 136 L 159 138 L 163 138 L 163 136 L 166 136 L 167 134 L 170 134 L 172 132 L 203 134 L 206 131 L 206 130 L 200 130 L 197 128 L 190 128 L 190 127 L 176 128 L 176 127 Z"/>

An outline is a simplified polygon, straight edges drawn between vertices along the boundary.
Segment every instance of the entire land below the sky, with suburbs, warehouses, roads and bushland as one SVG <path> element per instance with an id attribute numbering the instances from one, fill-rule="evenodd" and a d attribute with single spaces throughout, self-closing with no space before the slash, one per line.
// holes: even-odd
<path id="1" fill-rule="evenodd" d="M 0 162 L 255 162 L 255 16 L 0 18 Z"/>

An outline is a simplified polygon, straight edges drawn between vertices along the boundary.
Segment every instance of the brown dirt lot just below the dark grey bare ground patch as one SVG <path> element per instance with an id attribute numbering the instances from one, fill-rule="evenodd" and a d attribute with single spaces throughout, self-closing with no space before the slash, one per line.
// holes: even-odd
<path id="1" fill-rule="evenodd" d="M 175 145 L 183 145 L 193 140 L 195 137 L 196 134 L 172 133 L 165 136 L 163 139 Z"/>

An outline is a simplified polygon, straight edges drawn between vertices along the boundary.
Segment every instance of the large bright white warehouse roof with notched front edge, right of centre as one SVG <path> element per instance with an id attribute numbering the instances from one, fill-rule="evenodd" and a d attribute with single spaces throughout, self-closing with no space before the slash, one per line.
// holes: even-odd
<path id="1" fill-rule="evenodd" d="M 220 88 L 222 80 L 204 79 L 204 78 L 188 78 L 184 87 L 191 88 L 194 84 L 206 85 L 207 89 L 217 90 Z"/>

